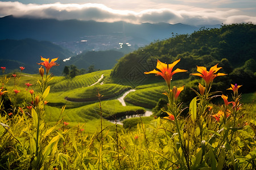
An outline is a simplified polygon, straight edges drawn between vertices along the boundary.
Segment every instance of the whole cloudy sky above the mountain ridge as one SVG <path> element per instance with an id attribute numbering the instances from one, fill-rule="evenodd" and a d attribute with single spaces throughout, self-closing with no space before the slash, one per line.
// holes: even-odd
<path id="1" fill-rule="evenodd" d="M 0 1 L 6 15 L 131 23 L 256 24 L 255 0 L 23 0 Z"/>

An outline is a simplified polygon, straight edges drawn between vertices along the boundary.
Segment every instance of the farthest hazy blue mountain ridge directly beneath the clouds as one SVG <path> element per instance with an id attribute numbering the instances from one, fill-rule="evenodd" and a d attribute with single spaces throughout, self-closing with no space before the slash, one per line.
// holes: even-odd
<path id="1" fill-rule="evenodd" d="M 162 40 L 177 34 L 187 34 L 198 31 L 200 27 L 185 24 L 142 23 L 131 24 L 126 22 L 95 22 L 81 20 L 56 20 L 15 18 L 12 15 L 0 18 L 1 39 L 35 39 L 51 42 L 79 41 L 86 36 L 112 35 L 110 44 L 131 42 L 132 44 L 146 45 L 154 40 Z M 209 26 L 209 25 L 208 25 Z M 220 27 L 220 25 L 212 25 Z M 93 38 L 92 38 L 93 39 Z M 101 37 L 97 41 L 100 43 Z M 88 40 L 88 44 L 92 40 Z M 97 42 L 93 42 L 97 43 Z M 105 44 L 108 43 L 104 42 Z M 100 46 L 100 45 L 98 45 Z M 67 46 L 68 47 L 68 46 Z M 92 49 L 90 49 L 92 50 Z"/>

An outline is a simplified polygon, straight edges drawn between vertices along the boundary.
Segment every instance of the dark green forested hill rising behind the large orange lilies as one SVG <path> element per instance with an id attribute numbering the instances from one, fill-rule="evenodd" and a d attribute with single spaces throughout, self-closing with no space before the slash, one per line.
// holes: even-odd
<path id="1" fill-rule="evenodd" d="M 112 77 L 131 82 L 139 80 L 143 83 L 148 78 L 154 78 L 151 75 L 145 76 L 143 72 L 153 70 L 156 59 L 172 63 L 181 58 L 176 67 L 186 69 L 188 73 L 174 75 L 174 79 L 188 78 L 189 73 L 196 72 L 196 66 L 209 68 L 219 63 L 218 66 L 223 67 L 221 73 L 229 74 L 230 83 L 248 83 L 243 86 L 255 91 L 253 86 L 256 75 L 255 46 L 256 25 L 254 24 L 202 28 L 191 35 L 177 35 L 167 40 L 152 42 L 144 48 L 127 54 L 115 65 Z M 134 75 L 132 79 L 129 78 L 131 74 Z"/>

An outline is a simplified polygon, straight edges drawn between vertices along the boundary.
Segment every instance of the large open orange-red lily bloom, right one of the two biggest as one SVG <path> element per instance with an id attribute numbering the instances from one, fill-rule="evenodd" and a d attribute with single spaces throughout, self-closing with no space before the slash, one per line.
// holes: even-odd
<path id="1" fill-rule="evenodd" d="M 222 67 L 217 67 L 217 65 L 210 67 L 209 71 L 207 71 L 206 67 L 197 66 L 197 71 L 199 73 L 193 73 L 191 75 L 201 76 L 201 78 L 203 78 L 205 80 L 205 86 L 209 87 L 209 84 L 212 83 L 213 79 L 216 78 L 216 76 L 227 75 L 227 74 L 224 74 L 224 73 L 214 74 L 218 70 L 222 69 Z"/>

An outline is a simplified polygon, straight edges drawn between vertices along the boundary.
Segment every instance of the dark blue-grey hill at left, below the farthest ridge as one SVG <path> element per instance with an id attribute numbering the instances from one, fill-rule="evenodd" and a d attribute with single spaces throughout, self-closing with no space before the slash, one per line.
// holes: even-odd
<path id="1" fill-rule="evenodd" d="M 1 66 L 7 70 L 19 69 L 19 66 L 26 67 L 26 73 L 37 73 L 40 56 L 44 58 L 56 58 L 59 60 L 73 56 L 73 53 L 59 45 L 49 41 L 37 41 L 32 39 L 24 40 L 0 40 L 0 61 Z"/>

